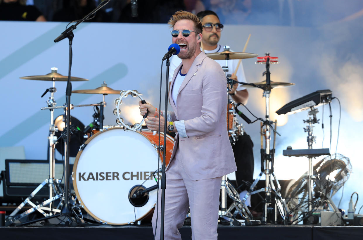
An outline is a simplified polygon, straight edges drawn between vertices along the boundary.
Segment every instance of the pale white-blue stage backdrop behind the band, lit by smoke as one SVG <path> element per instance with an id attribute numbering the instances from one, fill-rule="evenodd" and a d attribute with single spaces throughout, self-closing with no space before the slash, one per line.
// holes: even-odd
<path id="1" fill-rule="evenodd" d="M 0 84 L 2 114 L 0 118 L 0 146 L 24 146 L 26 159 L 47 158 L 47 136 L 49 111 L 45 107 L 49 94 L 41 94 L 52 87 L 48 81 L 22 80 L 19 77 L 44 75 L 51 67 L 58 73 L 68 74 L 68 39 L 54 43 L 66 23 L 20 23 L 1 21 L 0 29 Z M 88 78 L 88 82 L 72 82 L 72 89 L 94 89 L 105 81 L 115 90 L 136 89 L 144 94 L 146 101 L 158 105 L 161 58 L 171 44 L 171 36 L 166 24 L 119 24 L 82 23 L 74 31 L 72 76 Z M 363 165 L 360 163 L 359 149 L 362 144 L 360 131 L 363 120 L 362 94 L 363 68 L 362 26 L 359 21 L 334 23 L 319 28 L 277 27 L 252 25 L 227 25 L 220 40 L 222 45 L 230 45 L 235 51 L 242 51 L 248 34 L 251 33 L 246 52 L 263 56 L 265 52 L 279 57 L 280 64 L 272 65 L 271 80 L 293 82 L 295 86 L 273 89 L 271 113 L 294 99 L 316 90 L 330 89 L 333 97 L 340 99 L 342 115 L 340 122 L 337 152 L 350 158 L 353 173 L 347 181 L 341 208 L 348 208 L 353 191 L 361 192 Z M 243 60 L 248 82 L 265 80 L 264 65 L 254 64 L 256 58 Z M 165 66 L 163 79 L 165 78 Z M 65 103 L 66 82 L 56 82 L 55 99 L 59 105 Z M 164 90 L 163 90 L 164 93 Z M 265 115 L 265 99 L 262 90 L 249 89 L 247 106 L 258 117 Z M 112 111 L 117 95 L 107 95 L 105 125 L 115 125 Z M 72 94 L 73 104 L 89 104 L 102 101 L 102 95 Z M 131 124 L 140 122 L 138 98 L 128 97 L 123 104 L 124 118 Z M 162 106 L 164 103 L 162 102 Z M 339 105 L 333 100 L 333 123 L 331 153 L 335 152 Z M 253 117 L 239 107 L 248 117 Z M 314 148 L 329 148 L 329 108 L 318 108 L 318 118 L 324 118 L 324 135 L 320 124 L 315 124 L 314 135 L 317 144 Z M 62 114 L 56 110 L 54 117 Z M 93 121 L 92 107 L 72 110 L 71 115 L 88 125 Z M 303 119 L 307 111 L 289 117 L 271 114 L 279 123 L 281 137 L 276 141 L 275 174 L 279 179 L 298 179 L 307 171 L 307 159 L 287 158 L 282 150 L 287 146 L 293 149 L 306 149 Z M 254 142 L 256 177 L 260 172 L 260 123 L 246 126 L 246 132 Z M 323 142 L 323 136 L 325 140 Z M 0 153 L 1 154 L 1 153 Z M 321 158 L 319 158 L 321 159 Z M 317 159 L 318 160 L 318 159 Z M 136 163 L 135 163 L 136 164 Z M 334 196 L 339 202 L 341 190 Z M 362 198 L 360 198 L 362 199 Z M 358 202 L 358 207 L 363 201 Z"/>

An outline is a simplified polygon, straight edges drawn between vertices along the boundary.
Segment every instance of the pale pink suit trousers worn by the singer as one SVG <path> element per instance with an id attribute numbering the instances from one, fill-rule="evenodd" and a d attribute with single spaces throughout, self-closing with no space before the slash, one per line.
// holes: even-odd
<path id="1" fill-rule="evenodd" d="M 197 159 L 196 159 L 197 161 Z M 190 207 L 193 240 L 217 240 L 219 194 L 222 177 L 193 181 L 180 159 L 179 148 L 166 171 L 164 239 L 181 239 L 179 228 L 184 224 Z M 161 190 L 159 189 L 158 224 L 156 209 L 152 227 L 160 239 Z"/>

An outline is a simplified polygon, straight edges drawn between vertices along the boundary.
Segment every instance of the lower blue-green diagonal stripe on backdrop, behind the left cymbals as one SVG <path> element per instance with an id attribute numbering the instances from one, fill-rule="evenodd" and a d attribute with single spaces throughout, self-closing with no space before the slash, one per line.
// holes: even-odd
<path id="1" fill-rule="evenodd" d="M 98 76 L 92 78 L 90 81 L 85 82 L 80 85 L 79 89 L 94 89 L 99 86 L 104 80 L 107 79 L 107 84 L 111 85 L 114 82 L 125 77 L 127 74 L 127 66 L 125 64 L 119 63 L 111 68 L 100 73 Z M 82 102 L 89 98 L 92 94 L 72 94 L 71 102 Z M 65 95 L 56 99 L 56 102 L 65 102 Z M 24 127 L 31 123 L 32 127 Z M 21 123 L 4 133 L 0 136 L 0 146 L 14 146 L 17 142 L 21 141 L 24 136 L 32 134 L 34 131 L 38 130 L 44 124 L 49 124 L 49 110 L 39 110 L 34 113 L 29 118 L 24 119 Z"/>

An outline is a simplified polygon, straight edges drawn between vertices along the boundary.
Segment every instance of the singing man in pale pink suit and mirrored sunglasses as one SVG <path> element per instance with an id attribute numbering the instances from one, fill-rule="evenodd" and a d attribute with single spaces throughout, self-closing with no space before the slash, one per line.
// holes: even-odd
<path id="1" fill-rule="evenodd" d="M 169 92 L 174 111 L 167 113 L 168 130 L 176 136 L 166 170 L 164 237 L 181 239 L 178 229 L 190 207 L 192 239 L 216 240 L 222 176 L 237 169 L 227 133 L 226 79 L 220 65 L 200 50 L 203 27 L 196 15 L 178 11 L 169 24 L 172 42 L 181 49 L 181 64 Z M 145 120 L 148 129 L 164 129 L 164 117 L 160 116 L 159 126 L 154 106 L 139 105 L 141 115 L 150 112 Z M 158 226 L 156 239 L 160 238 L 158 209 L 152 218 L 154 231 Z"/>

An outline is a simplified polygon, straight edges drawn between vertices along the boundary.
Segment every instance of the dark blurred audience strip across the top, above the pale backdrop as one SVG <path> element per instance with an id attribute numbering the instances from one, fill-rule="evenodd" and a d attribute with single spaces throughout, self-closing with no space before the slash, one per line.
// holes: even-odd
<path id="1" fill-rule="evenodd" d="M 74 21 L 103 0 L 0 0 L 0 20 Z M 212 10 L 225 24 L 313 27 L 333 23 L 362 11 L 362 0 L 138 0 L 138 16 L 131 16 L 131 0 L 113 0 L 93 22 L 165 23 L 179 10 Z M 360 16 L 360 15 L 359 15 Z"/>

